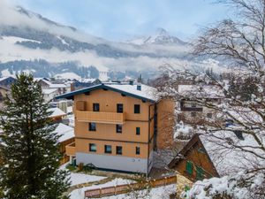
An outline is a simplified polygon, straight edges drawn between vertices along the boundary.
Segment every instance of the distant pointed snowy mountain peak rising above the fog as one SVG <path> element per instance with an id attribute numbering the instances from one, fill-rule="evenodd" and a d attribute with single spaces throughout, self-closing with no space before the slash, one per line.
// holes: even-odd
<path id="1" fill-rule="evenodd" d="M 186 42 L 178 39 L 176 36 L 170 35 L 165 29 L 158 28 L 154 35 L 142 36 L 133 40 L 127 41 L 135 45 L 159 44 L 159 45 L 187 45 Z"/>

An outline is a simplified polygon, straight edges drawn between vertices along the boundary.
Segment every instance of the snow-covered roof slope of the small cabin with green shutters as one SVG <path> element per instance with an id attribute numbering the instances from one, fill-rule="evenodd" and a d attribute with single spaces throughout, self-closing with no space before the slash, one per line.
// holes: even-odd
<path id="1" fill-rule="evenodd" d="M 244 140 L 240 140 L 231 131 L 218 131 L 213 135 L 201 134 L 200 140 L 207 150 L 208 156 L 216 167 L 220 176 L 240 172 L 246 169 L 254 169 L 256 164 L 261 164 L 264 159 L 254 156 L 252 152 L 265 156 L 264 151 L 255 149 L 257 142 L 249 134 L 243 134 Z M 265 139 L 263 140 L 265 144 Z M 232 144 L 231 144 L 232 143 Z M 239 146 L 242 149 L 239 149 Z M 246 152 L 249 150 L 250 152 Z"/>

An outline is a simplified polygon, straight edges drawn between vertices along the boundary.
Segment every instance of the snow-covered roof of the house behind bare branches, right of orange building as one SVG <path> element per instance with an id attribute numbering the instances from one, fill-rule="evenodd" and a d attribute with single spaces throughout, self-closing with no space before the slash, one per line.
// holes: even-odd
<path id="1" fill-rule="evenodd" d="M 222 89 L 215 85 L 178 85 L 178 93 L 182 96 L 199 96 L 203 98 L 223 98 Z"/>

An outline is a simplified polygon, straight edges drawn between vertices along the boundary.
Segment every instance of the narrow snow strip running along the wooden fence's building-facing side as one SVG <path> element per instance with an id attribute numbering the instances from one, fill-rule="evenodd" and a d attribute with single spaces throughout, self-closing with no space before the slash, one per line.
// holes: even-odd
<path id="1" fill-rule="evenodd" d="M 90 187 L 85 187 L 85 188 L 78 188 L 75 189 L 71 192 L 71 196 L 70 199 L 79 199 L 79 198 L 84 198 L 84 194 L 86 190 L 90 190 L 90 189 L 94 189 L 94 188 L 107 188 L 107 187 L 112 187 L 112 186 L 117 186 L 117 185 L 125 185 L 125 184 L 129 184 L 129 183 L 133 183 L 133 180 L 125 180 L 125 179 L 114 179 L 111 180 L 109 182 L 106 182 L 102 185 L 93 185 Z"/>

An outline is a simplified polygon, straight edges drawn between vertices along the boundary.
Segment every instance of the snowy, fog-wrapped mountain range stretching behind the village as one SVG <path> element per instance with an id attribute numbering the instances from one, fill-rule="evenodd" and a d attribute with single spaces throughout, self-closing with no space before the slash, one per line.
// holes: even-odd
<path id="1" fill-rule="evenodd" d="M 87 77 L 93 65 L 102 80 L 107 79 L 105 72 L 117 79 L 138 73 L 149 78 L 164 64 L 207 66 L 194 62 L 188 55 L 190 45 L 163 28 L 153 35 L 110 42 L 5 1 L 0 3 L 0 45 L 2 76 L 28 71 L 39 77 L 60 73 Z"/>

